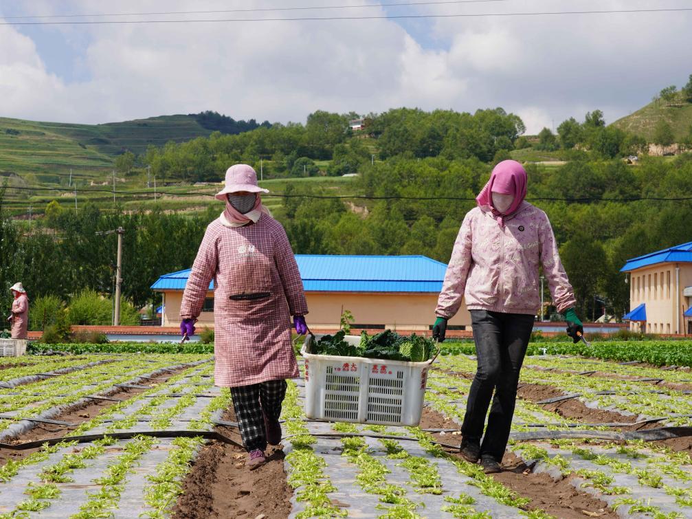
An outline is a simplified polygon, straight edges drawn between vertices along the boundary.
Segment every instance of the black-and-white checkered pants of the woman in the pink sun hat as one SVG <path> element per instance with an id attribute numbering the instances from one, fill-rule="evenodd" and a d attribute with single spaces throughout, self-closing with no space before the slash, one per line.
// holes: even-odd
<path id="1" fill-rule="evenodd" d="M 281 404 L 286 396 L 286 381 L 270 380 L 259 384 L 230 388 L 235 419 L 246 450 L 266 449 L 266 433 L 262 411 L 270 419 L 279 419 Z"/>

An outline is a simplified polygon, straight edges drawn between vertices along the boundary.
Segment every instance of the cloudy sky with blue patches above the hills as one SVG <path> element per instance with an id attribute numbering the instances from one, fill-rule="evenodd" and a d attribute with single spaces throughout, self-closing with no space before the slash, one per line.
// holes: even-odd
<path id="1" fill-rule="evenodd" d="M 137 13 L 33 21 L 485 15 L 691 8 L 683 0 L 0 0 L 17 17 Z M 430 1 L 430 0 L 420 0 Z M 376 4 L 376 5 L 373 5 Z M 316 6 L 356 8 L 142 15 Z M 692 11 L 184 24 L 0 26 L 0 117 L 101 123 L 218 111 L 304 122 L 318 109 L 503 107 L 528 134 L 608 122 L 692 74 Z"/>

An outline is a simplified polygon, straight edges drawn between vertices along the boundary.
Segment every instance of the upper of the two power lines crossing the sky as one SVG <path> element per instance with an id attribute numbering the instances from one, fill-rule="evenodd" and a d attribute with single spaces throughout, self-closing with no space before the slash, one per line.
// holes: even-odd
<path id="1" fill-rule="evenodd" d="M 159 12 L 113 12 L 100 15 L 42 15 L 42 16 L 6 16 L 10 19 L 53 19 L 53 18 L 91 18 L 91 17 L 116 17 L 116 16 L 159 16 L 159 15 L 214 15 L 223 12 L 274 12 L 274 11 L 307 11 L 307 10 L 330 10 L 330 9 L 364 9 L 376 7 L 412 7 L 412 6 L 444 6 L 459 5 L 462 3 L 497 3 L 513 0 L 446 0 L 429 2 L 392 2 L 392 3 L 367 3 L 363 6 L 298 6 L 298 7 L 272 7 L 254 9 L 217 9 L 206 11 L 159 11 Z"/>

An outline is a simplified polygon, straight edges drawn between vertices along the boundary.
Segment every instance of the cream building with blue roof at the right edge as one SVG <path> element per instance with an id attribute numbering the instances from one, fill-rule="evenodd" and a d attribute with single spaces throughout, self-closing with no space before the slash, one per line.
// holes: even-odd
<path id="1" fill-rule="evenodd" d="M 692 242 L 628 260 L 630 329 L 650 334 L 692 334 Z"/>

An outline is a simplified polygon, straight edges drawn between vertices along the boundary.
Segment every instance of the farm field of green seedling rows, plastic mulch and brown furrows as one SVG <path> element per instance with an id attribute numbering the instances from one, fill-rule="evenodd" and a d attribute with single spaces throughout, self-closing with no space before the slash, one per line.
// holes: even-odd
<path id="1" fill-rule="evenodd" d="M 493 475 L 455 448 L 468 346 L 435 362 L 417 428 L 309 421 L 289 381 L 283 448 L 256 471 L 210 355 L 0 357 L 0 518 L 692 517 L 692 345 L 667 345 L 678 365 L 648 362 L 659 343 L 628 361 L 531 345 Z"/>

